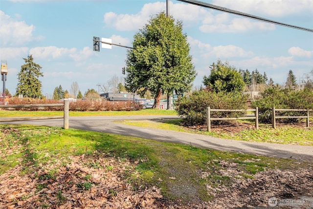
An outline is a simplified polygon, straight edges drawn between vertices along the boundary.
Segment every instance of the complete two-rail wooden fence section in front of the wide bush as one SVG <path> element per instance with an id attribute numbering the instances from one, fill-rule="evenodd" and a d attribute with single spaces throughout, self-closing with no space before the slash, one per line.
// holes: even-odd
<path id="1" fill-rule="evenodd" d="M 254 112 L 254 116 L 246 116 L 246 117 L 211 117 L 211 112 L 246 112 L 252 111 Z M 256 107 L 255 109 L 247 109 L 247 110 L 225 110 L 225 109 L 211 109 L 210 107 L 206 108 L 206 124 L 207 131 L 211 132 L 211 120 L 239 120 L 239 119 L 254 119 L 255 128 L 259 129 L 259 109 Z"/>

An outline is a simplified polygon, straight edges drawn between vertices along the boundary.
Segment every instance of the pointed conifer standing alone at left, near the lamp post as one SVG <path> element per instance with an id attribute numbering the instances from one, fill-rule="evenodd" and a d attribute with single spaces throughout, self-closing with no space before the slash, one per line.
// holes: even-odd
<path id="1" fill-rule="evenodd" d="M 32 55 L 23 58 L 25 64 L 21 66 L 21 71 L 18 73 L 18 85 L 16 88 L 16 96 L 22 94 L 30 98 L 43 98 L 41 92 L 41 81 L 39 77 L 44 77 L 40 72 L 42 67 L 34 62 Z"/>

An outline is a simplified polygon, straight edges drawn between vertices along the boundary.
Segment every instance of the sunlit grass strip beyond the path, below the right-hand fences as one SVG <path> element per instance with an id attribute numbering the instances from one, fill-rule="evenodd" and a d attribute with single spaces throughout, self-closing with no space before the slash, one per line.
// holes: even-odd
<path id="1" fill-rule="evenodd" d="M 145 121 L 124 120 L 115 122 L 146 128 L 158 128 L 193 134 L 202 134 L 223 139 L 313 146 L 312 128 L 308 129 L 306 127 L 299 128 L 293 126 L 277 126 L 276 129 L 273 129 L 270 125 L 260 124 L 258 130 L 249 129 L 235 134 L 229 132 L 209 133 L 206 130 L 202 131 L 198 129 L 186 128 L 181 125 L 181 121 L 182 121 L 181 119 L 171 119 L 171 120 L 145 120 Z"/>

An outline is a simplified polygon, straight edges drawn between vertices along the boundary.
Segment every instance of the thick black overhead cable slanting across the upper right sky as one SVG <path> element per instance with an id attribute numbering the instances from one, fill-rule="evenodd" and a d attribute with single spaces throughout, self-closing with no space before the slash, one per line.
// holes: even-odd
<path id="1" fill-rule="evenodd" d="M 304 30 L 304 31 L 308 31 L 308 32 L 313 32 L 313 29 L 310 29 L 310 28 L 305 28 L 305 27 L 300 27 L 300 26 L 296 26 L 296 25 L 291 25 L 291 24 L 286 24 L 286 23 L 280 23 L 280 22 L 277 22 L 277 21 L 272 21 L 272 20 L 269 20 L 269 19 L 266 19 L 266 18 L 261 18 L 261 17 L 255 16 L 255 15 L 250 15 L 250 14 L 247 14 L 247 13 L 244 13 L 244 12 L 239 12 L 239 11 L 232 10 L 232 9 L 227 9 L 225 7 L 222 7 L 222 6 L 216 6 L 216 5 L 213 5 L 213 4 L 210 4 L 210 3 L 205 3 L 205 2 L 202 2 L 202 1 L 198 1 L 198 0 L 179 0 L 179 1 L 182 1 L 182 2 L 185 2 L 185 3 L 191 3 L 191 4 L 194 4 L 194 5 L 197 5 L 197 6 L 202 6 L 202 7 L 206 7 L 206 8 L 210 8 L 210 9 L 215 9 L 215 10 L 218 10 L 218 11 L 221 11 L 221 12 L 227 12 L 227 13 L 230 13 L 230 14 L 243 16 L 243 17 L 246 17 L 246 18 L 251 18 L 251 19 L 254 19 L 254 20 L 258 20 L 258 21 L 263 21 L 263 22 L 266 22 L 266 23 L 278 24 L 278 25 L 281 25 L 281 26 L 291 27 L 291 28 L 294 28 L 294 29 L 299 29 L 299 30 Z"/>

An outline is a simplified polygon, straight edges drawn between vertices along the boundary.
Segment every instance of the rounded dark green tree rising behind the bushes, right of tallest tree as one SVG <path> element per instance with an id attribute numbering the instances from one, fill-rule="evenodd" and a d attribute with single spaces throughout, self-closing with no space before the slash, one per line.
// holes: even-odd
<path id="1" fill-rule="evenodd" d="M 203 77 L 203 84 L 213 92 L 239 93 L 244 90 L 245 83 L 240 72 L 229 66 L 227 62 L 218 60 L 210 66 L 211 74 Z"/>

